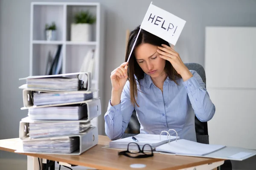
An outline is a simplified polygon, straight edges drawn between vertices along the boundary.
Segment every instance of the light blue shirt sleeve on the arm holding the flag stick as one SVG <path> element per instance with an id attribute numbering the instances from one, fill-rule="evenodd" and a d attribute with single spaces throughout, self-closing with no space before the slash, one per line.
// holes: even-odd
<path id="1" fill-rule="evenodd" d="M 130 83 L 126 82 L 121 94 L 121 102 L 112 106 L 111 101 L 108 102 L 108 110 L 105 113 L 105 133 L 111 139 L 119 139 L 131 119 L 134 106 L 131 104 Z"/>

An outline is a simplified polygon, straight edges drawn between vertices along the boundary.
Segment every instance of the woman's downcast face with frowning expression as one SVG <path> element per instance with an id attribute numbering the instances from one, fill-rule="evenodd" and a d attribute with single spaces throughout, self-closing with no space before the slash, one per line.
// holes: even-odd
<path id="1" fill-rule="evenodd" d="M 150 77 L 158 77 L 164 73 L 166 60 L 159 57 L 157 46 L 141 44 L 135 50 L 135 58 L 140 68 Z"/>

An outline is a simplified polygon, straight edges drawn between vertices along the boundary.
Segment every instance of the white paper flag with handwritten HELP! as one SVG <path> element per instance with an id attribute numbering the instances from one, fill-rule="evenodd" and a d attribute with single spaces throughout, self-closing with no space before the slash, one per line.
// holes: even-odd
<path id="1" fill-rule="evenodd" d="M 151 3 L 140 28 L 175 45 L 185 23 L 185 20 Z"/>

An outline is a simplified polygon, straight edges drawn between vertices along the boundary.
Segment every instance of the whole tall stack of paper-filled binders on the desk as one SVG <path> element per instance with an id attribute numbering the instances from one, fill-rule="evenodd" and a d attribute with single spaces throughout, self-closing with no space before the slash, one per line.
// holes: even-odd
<path id="1" fill-rule="evenodd" d="M 16 152 L 80 155 L 98 144 L 90 121 L 101 114 L 101 105 L 93 97 L 90 72 L 22 79 L 21 109 L 28 116 L 20 121 L 23 150 Z"/>

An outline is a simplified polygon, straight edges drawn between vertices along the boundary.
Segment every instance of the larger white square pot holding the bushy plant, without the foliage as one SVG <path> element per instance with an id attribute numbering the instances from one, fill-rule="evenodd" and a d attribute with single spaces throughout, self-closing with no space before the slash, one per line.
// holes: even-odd
<path id="1" fill-rule="evenodd" d="M 71 24 L 71 41 L 92 41 L 92 25 Z"/>

